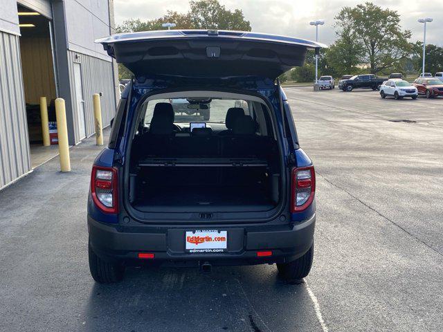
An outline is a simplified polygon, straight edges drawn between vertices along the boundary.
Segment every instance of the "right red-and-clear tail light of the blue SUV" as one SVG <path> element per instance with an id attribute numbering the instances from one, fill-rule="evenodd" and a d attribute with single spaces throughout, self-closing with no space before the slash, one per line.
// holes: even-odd
<path id="1" fill-rule="evenodd" d="M 316 174 L 314 166 L 292 169 L 291 212 L 305 210 L 314 201 Z"/>

